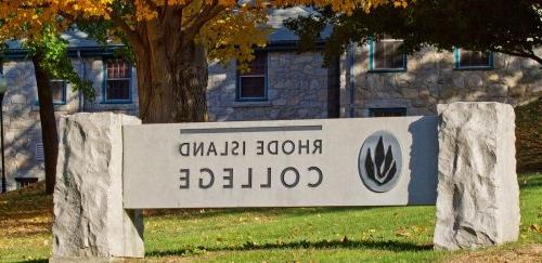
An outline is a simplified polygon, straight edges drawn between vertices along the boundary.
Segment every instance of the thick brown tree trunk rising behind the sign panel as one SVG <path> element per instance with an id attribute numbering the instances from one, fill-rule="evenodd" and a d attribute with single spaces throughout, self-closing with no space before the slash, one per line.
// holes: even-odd
<path id="1" fill-rule="evenodd" d="M 185 21 L 184 8 L 159 8 L 156 18 L 134 25 L 113 17 L 134 54 L 143 123 L 207 120 L 207 53 L 195 39 L 205 23 L 223 8 L 210 4 L 190 21 Z"/>

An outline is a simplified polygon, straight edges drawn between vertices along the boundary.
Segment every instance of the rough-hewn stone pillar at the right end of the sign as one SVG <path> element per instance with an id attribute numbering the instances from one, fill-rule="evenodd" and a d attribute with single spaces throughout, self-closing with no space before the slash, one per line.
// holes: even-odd
<path id="1" fill-rule="evenodd" d="M 438 105 L 436 249 L 517 240 L 515 115 L 501 103 Z"/>

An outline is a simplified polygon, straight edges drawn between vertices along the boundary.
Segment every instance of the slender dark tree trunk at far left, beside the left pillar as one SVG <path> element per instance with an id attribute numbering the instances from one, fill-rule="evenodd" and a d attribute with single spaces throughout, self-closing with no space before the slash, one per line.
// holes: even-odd
<path id="1" fill-rule="evenodd" d="M 59 134 L 54 117 L 53 91 L 49 74 L 40 66 L 40 54 L 33 55 L 34 71 L 38 86 L 39 117 L 41 119 L 41 136 L 46 160 L 46 193 L 54 192 L 56 181 L 56 158 L 59 156 Z"/>

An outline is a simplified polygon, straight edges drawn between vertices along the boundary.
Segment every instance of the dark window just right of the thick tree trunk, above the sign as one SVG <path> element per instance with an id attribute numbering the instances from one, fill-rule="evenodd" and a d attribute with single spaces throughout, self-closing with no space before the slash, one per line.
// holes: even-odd
<path id="1" fill-rule="evenodd" d="M 238 101 L 266 101 L 267 100 L 267 53 L 258 52 L 250 62 L 248 73 L 238 73 L 237 94 Z"/>

